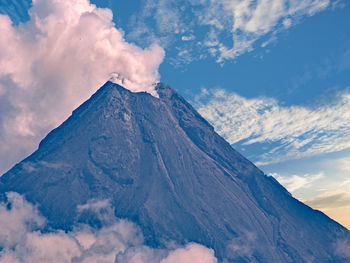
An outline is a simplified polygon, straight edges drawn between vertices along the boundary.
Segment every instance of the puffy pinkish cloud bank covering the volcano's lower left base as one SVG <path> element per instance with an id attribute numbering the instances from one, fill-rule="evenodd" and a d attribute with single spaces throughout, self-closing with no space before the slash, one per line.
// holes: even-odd
<path id="1" fill-rule="evenodd" d="M 140 230 L 134 224 L 113 217 L 111 207 L 96 201 L 80 207 L 92 209 L 103 227 L 79 225 L 71 232 L 43 232 L 45 219 L 35 206 L 17 193 L 7 193 L 0 203 L 1 263 L 217 263 L 214 251 L 189 243 L 172 249 L 153 249 L 143 245 Z M 108 213 L 107 213 L 108 214 Z"/>

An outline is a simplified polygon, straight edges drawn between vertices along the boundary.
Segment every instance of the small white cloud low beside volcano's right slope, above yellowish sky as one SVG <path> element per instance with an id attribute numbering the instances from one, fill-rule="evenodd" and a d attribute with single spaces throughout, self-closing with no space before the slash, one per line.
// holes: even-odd
<path id="1" fill-rule="evenodd" d="M 290 192 L 295 192 L 300 188 L 308 188 L 312 186 L 312 183 L 324 177 L 323 173 L 318 174 L 305 174 L 303 176 L 280 176 L 276 173 L 271 173 L 271 176 L 275 177 L 277 181 L 288 189 Z"/>

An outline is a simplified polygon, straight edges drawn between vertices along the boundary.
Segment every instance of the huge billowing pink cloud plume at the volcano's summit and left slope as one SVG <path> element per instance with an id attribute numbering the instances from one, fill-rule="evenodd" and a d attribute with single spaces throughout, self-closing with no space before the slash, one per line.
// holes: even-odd
<path id="1" fill-rule="evenodd" d="M 0 15 L 0 173 L 29 154 L 109 78 L 155 95 L 163 49 L 130 44 L 88 0 L 34 0 L 17 26 Z"/>

